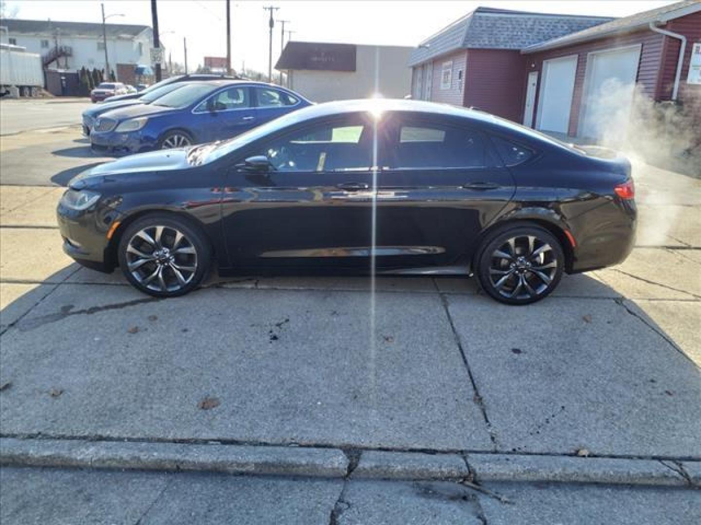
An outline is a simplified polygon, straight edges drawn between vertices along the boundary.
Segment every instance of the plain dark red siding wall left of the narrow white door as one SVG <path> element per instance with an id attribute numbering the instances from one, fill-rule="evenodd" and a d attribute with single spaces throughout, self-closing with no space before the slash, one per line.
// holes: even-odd
<path id="1" fill-rule="evenodd" d="M 518 50 L 468 50 L 464 105 L 521 123 L 525 71 L 526 61 Z"/>

